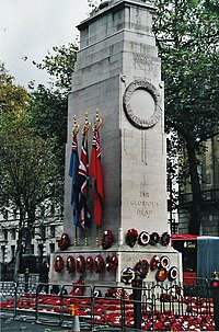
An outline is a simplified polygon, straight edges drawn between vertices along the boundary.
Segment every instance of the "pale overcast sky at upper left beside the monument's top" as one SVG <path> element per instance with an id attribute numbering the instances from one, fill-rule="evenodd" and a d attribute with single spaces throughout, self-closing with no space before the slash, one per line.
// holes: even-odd
<path id="1" fill-rule="evenodd" d="M 88 0 L 0 0 L 0 60 L 15 82 L 48 81 L 32 61 L 41 61 L 53 46 L 73 43 L 76 26 L 90 11 Z"/>

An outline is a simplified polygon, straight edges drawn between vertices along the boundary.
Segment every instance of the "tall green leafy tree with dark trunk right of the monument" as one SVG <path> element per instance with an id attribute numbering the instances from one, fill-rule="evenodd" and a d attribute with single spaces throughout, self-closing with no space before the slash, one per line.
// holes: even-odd
<path id="1" fill-rule="evenodd" d="M 180 161 L 187 162 L 193 194 L 188 231 L 197 234 L 203 203 L 198 153 L 204 141 L 219 134 L 219 21 L 209 1 L 153 2 L 158 8 L 153 30 L 165 85 L 165 127 L 177 134 L 174 139 L 177 137 L 178 149 L 184 150 Z"/>

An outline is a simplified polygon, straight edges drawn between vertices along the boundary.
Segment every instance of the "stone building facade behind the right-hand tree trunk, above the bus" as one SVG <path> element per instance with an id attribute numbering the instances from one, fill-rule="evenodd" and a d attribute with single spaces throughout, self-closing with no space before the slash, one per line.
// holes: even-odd
<path id="1" fill-rule="evenodd" d="M 205 142 L 205 149 L 199 156 L 198 173 L 203 194 L 199 234 L 219 237 L 219 136 Z M 188 232 L 192 199 L 189 186 L 186 185 L 180 193 L 178 233 Z"/>

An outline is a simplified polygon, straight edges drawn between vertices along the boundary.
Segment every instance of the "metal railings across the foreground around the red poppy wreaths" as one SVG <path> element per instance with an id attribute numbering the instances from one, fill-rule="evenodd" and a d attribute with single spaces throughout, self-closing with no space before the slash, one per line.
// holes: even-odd
<path id="1" fill-rule="evenodd" d="M 37 323 L 60 327 L 71 325 L 77 316 L 83 325 L 81 331 L 108 328 L 114 331 L 187 331 L 192 325 L 210 330 L 217 324 L 218 305 L 215 306 L 208 281 L 201 283 L 201 289 L 198 285 L 197 282 L 185 289 L 185 286 L 163 283 L 114 288 L 43 284 L 47 286 L 46 294 L 45 290 L 39 293 L 41 284 L 0 283 L 1 311 L 11 312 L 14 318 L 25 312 Z M 56 293 L 51 291 L 54 286 L 57 286 Z"/>

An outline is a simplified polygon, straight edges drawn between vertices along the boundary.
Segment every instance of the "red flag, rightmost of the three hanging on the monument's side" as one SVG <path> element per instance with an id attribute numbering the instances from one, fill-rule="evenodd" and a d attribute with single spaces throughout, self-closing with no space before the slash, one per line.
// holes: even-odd
<path id="1" fill-rule="evenodd" d="M 103 214 L 103 171 L 99 131 L 94 131 L 89 173 L 94 179 L 94 222 L 101 228 Z"/>

